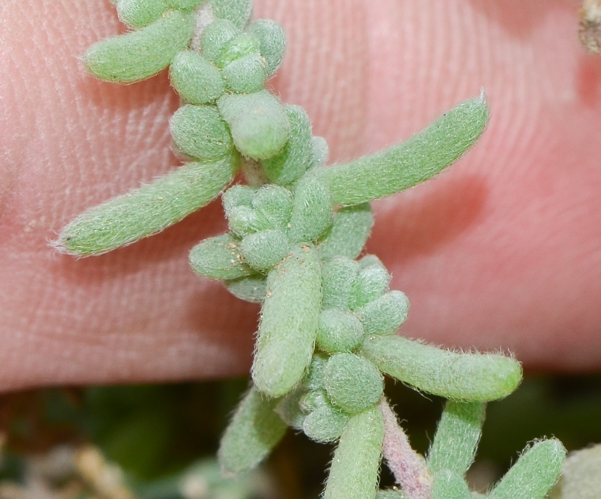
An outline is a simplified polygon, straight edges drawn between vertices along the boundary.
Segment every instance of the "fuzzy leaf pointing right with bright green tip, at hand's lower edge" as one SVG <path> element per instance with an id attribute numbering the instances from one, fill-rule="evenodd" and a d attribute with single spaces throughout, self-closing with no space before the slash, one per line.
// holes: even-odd
<path id="1" fill-rule="evenodd" d="M 501 399 L 522 380 L 522 367 L 513 358 L 459 354 L 400 336 L 367 336 L 360 352 L 393 378 L 457 401 Z"/>

